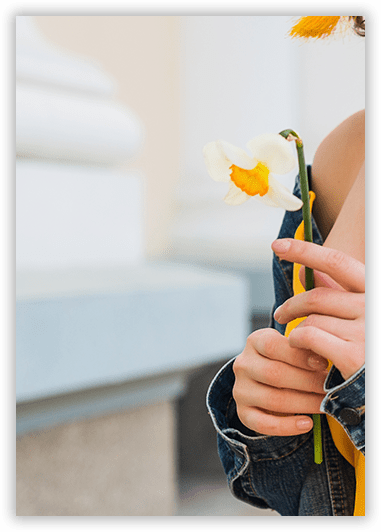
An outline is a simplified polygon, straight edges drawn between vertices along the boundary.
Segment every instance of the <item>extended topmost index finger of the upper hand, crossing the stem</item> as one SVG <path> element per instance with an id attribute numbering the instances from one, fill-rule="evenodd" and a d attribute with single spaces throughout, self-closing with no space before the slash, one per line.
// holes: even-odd
<path id="1" fill-rule="evenodd" d="M 282 260 L 326 273 L 346 290 L 365 291 L 365 266 L 346 253 L 291 238 L 275 240 L 272 249 Z"/>

